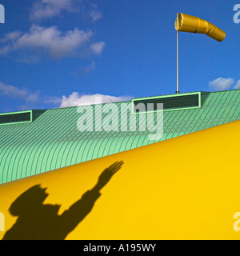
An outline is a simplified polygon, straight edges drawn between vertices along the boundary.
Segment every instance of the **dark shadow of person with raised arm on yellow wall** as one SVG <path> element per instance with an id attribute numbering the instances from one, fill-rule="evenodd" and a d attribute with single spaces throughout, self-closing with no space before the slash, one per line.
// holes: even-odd
<path id="1" fill-rule="evenodd" d="M 58 215 L 60 205 L 44 205 L 48 197 L 46 188 L 32 186 L 22 193 L 10 206 L 10 214 L 18 216 L 2 240 L 64 240 L 83 218 L 90 213 L 94 202 L 100 197 L 100 190 L 122 167 L 123 162 L 115 162 L 106 168 L 98 178 L 96 186 L 86 191 L 82 198 Z"/>

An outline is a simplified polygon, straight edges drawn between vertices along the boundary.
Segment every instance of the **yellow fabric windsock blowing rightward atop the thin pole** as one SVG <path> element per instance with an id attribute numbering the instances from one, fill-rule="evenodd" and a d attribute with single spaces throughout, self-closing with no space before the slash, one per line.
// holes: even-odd
<path id="1" fill-rule="evenodd" d="M 206 34 L 218 42 L 222 42 L 226 37 L 226 32 L 219 29 L 218 26 L 215 26 L 202 18 L 187 14 L 178 14 L 175 21 L 175 29 L 182 32 Z"/>

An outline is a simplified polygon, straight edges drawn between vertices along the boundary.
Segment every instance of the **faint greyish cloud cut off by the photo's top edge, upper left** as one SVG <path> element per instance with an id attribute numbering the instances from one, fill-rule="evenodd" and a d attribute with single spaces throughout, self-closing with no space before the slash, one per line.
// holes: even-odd
<path id="1" fill-rule="evenodd" d="M 74 0 L 39 0 L 34 2 L 30 14 L 32 20 L 54 18 L 59 16 L 63 10 L 74 12 L 76 10 Z"/>

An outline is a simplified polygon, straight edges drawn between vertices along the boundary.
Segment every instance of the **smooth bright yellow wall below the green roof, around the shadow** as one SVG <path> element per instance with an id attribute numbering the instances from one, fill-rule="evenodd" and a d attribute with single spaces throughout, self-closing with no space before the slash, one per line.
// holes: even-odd
<path id="1" fill-rule="evenodd" d="M 31 186 L 47 188 L 44 204 L 61 205 L 62 214 L 102 170 L 123 161 L 68 239 L 239 239 L 239 130 L 240 121 L 231 122 L 6 183 L 0 186 L 6 230 L 17 220 L 8 211 L 11 203 Z"/>

